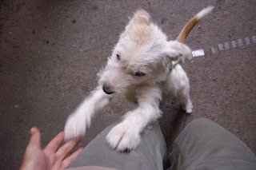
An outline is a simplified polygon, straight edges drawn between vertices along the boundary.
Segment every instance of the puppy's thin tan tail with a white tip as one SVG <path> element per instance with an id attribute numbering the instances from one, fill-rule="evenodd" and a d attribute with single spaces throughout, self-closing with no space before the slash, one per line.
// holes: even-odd
<path id="1" fill-rule="evenodd" d="M 186 26 L 183 27 L 182 32 L 178 35 L 178 38 L 176 38 L 176 40 L 178 42 L 184 43 L 186 40 L 186 36 L 190 34 L 190 30 L 193 29 L 193 27 L 199 22 L 200 19 L 206 16 L 206 14 L 209 14 L 213 9 L 214 9 L 214 6 L 208 6 L 202 9 L 193 18 L 191 18 L 190 21 L 187 22 Z"/>

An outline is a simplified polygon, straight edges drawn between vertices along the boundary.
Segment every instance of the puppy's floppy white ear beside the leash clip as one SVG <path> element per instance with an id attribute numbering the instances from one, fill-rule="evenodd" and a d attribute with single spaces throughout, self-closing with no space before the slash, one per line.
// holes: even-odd
<path id="1" fill-rule="evenodd" d="M 170 61 L 178 60 L 182 58 L 182 61 L 185 59 L 190 59 L 192 57 L 191 49 L 187 45 L 178 41 L 170 41 L 166 43 L 165 56 Z"/>

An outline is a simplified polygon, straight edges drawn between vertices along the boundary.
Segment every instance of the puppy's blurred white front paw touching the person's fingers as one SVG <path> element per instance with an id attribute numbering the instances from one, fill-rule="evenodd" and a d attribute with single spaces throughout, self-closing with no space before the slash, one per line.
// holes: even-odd
<path id="1" fill-rule="evenodd" d="M 64 128 L 65 140 L 76 139 L 86 134 L 86 117 L 82 114 L 71 114 Z"/>

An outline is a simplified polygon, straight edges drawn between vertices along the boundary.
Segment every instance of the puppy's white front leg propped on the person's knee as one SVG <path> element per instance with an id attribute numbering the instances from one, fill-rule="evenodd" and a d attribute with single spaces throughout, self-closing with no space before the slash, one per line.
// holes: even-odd
<path id="1" fill-rule="evenodd" d="M 151 121 L 156 121 L 161 116 L 162 112 L 158 108 L 161 95 L 158 87 L 148 87 L 138 92 L 138 108 L 126 113 L 123 121 L 106 136 L 110 148 L 117 148 L 122 152 L 138 146 L 140 132 Z"/>

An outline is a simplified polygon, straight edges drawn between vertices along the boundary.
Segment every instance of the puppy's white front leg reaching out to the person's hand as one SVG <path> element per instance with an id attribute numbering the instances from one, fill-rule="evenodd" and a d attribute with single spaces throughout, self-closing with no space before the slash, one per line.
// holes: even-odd
<path id="1" fill-rule="evenodd" d="M 65 140 L 84 136 L 86 128 L 90 127 L 91 118 L 99 109 L 102 109 L 110 101 L 111 95 L 103 92 L 98 87 L 90 97 L 87 97 L 82 104 L 67 118 L 64 133 Z"/>

